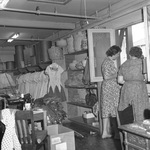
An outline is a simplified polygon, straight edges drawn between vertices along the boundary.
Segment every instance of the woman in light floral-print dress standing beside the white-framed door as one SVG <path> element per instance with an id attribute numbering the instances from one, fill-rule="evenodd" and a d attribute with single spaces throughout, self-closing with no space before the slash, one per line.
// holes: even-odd
<path id="1" fill-rule="evenodd" d="M 111 137 L 109 117 L 115 117 L 115 108 L 118 106 L 120 86 L 117 84 L 117 68 L 114 61 L 119 57 L 121 52 L 120 47 L 113 45 L 110 47 L 106 55 L 107 57 L 102 63 L 102 89 L 101 89 L 101 106 L 103 133 L 102 138 Z"/>

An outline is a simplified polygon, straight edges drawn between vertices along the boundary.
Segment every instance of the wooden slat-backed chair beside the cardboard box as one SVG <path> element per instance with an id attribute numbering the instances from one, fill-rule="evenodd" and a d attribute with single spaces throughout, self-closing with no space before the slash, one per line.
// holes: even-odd
<path id="1" fill-rule="evenodd" d="M 18 139 L 22 150 L 47 148 L 47 131 L 35 130 L 33 111 L 17 111 L 15 114 Z"/>

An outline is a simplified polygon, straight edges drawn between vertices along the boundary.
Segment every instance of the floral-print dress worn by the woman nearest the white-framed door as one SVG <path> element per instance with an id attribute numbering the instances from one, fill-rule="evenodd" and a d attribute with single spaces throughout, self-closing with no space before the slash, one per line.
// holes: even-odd
<path id="1" fill-rule="evenodd" d="M 101 66 L 103 82 L 101 86 L 101 110 L 102 117 L 116 117 L 115 108 L 118 107 L 120 86 L 117 84 L 116 78 L 107 80 L 107 76 L 117 74 L 117 68 L 113 60 L 106 58 Z"/>

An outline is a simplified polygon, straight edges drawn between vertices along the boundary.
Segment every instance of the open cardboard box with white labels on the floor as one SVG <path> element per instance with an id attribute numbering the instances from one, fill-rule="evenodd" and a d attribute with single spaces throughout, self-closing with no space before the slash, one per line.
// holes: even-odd
<path id="1" fill-rule="evenodd" d="M 74 131 L 62 125 L 47 127 L 50 150 L 75 150 Z"/>

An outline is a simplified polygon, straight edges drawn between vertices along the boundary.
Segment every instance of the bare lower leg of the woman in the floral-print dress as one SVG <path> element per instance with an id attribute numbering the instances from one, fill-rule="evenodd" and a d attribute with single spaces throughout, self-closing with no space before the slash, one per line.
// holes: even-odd
<path id="1" fill-rule="evenodd" d="M 110 134 L 110 119 L 103 118 L 103 133 L 102 133 L 102 138 L 109 138 L 111 137 Z"/>

